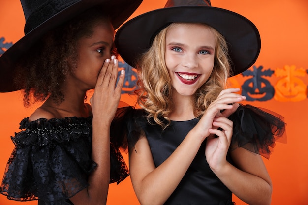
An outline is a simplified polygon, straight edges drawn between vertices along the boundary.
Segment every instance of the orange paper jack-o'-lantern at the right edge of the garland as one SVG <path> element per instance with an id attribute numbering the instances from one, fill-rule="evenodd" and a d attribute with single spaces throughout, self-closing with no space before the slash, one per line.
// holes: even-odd
<path id="1" fill-rule="evenodd" d="M 275 70 L 275 76 L 282 77 L 275 85 L 274 99 L 281 102 L 298 102 L 307 98 L 307 86 L 298 77 L 306 75 L 303 68 L 296 69 L 294 65 L 285 65 Z"/>

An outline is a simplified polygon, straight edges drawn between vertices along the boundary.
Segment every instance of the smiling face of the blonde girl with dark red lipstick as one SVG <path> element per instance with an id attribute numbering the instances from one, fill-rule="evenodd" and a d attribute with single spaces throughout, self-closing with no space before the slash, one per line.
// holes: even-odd
<path id="1" fill-rule="evenodd" d="M 165 62 L 174 94 L 192 96 L 210 77 L 216 37 L 205 25 L 173 24 L 166 33 Z"/>

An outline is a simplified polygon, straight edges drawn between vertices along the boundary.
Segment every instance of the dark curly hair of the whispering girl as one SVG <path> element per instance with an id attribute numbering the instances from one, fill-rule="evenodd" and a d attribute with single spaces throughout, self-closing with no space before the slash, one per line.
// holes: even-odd
<path id="1" fill-rule="evenodd" d="M 49 31 L 19 59 L 14 83 L 24 89 L 25 107 L 48 97 L 57 104 L 64 100 L 62 86 L 66 73 L 73 71 L 78 63 L 78 40 L 91 36 L 93 27 L 107 19 L 106 12 L 100 8 L 86 10 Z"/>

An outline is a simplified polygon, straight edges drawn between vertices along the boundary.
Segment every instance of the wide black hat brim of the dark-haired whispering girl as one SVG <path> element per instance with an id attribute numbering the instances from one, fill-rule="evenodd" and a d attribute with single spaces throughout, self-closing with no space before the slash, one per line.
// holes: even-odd
<path id="1" fill-rule="evenodd" d="M 0 92 L 18 90 L 13 84 L 15 63 L 46 32 L 94 6 L 103 6 L 111 16 L 114 29 L 138 8 L 142 0 L 79 0 L 32 29 L 0 56 Z"/>

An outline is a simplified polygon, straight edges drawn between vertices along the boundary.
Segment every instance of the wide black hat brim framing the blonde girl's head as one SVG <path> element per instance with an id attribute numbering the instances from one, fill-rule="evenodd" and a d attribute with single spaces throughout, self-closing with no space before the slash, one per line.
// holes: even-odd
<path id="1" fill-rule="evenodd" d="M 150 48 L 155 35 L 174 22 L 206 23 L 220 32 L 229 46 L 232 75 L 251 67 L 260 53 L 259 31 L 246 17 L 216 7 L 181 6 L 150 11 L 123 24 L 115 36 L 119 54 L 136 67 L 137 58 Z"/>

